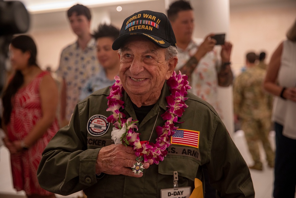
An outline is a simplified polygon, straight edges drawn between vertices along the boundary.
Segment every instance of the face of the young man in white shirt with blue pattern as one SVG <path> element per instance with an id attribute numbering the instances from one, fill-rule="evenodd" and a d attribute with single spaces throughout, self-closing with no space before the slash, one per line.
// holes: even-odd
<path id="1" fill-rule="evenodd" d="M 78 36 L 83 36 L 89 33 L 90 21 L 84 15 L 76 15 L 74 12 L 69 17 L 70 25 L 73 32 Z"/>

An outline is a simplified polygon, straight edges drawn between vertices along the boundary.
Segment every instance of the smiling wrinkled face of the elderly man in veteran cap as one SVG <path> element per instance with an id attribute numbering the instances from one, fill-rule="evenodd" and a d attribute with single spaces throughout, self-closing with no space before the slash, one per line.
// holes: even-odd
<path id="1" fill-rule="evenodd" d="M 160 92 L 175 67 L 165 60 L 166 49 L 141 36 L 130 37 L 121 47 L 119 77 L 128 94 Z"/>

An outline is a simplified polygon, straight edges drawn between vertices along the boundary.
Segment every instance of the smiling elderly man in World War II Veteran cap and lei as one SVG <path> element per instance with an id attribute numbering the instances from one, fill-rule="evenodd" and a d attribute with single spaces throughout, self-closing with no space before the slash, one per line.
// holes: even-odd
<path id="1" fill-rule="evenodd" d="M 218 196 L 254 197 L 249 169 L 219 116 L 187 95 L 187 77 L 174 72 L 176 39 L 165 14 L 126 18 L 112 48 L 119 49 L 119 77 L 78 103 L 49 142 L 40 185 L 62 195 L 188 198 L 205 165 Z"/>

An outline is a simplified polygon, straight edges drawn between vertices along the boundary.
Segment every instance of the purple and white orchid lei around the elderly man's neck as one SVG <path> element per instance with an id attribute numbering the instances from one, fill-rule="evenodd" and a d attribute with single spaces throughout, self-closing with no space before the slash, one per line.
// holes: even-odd
<path id="1" fill-rule="evenodd" d="M 138 130 L 136 123 L 137 120 L 132 120 L 132 118 L 125 119 L 126 115 L 119 111 L 120 107 L 123 109 L 124 102 L 121 100 L 123 97 L 123 86 L 120 82 L 118 76 L 115 76 L 115 83 L 110 87 L 110 95 L 108 99 L 108 109 L 107 111 L 112 111 L 113 114 L 107 118 L 107 121 L 113 123 L 115 128 L 112 131 L 112 139 L 123 145 L 133 146 L 136 151 L 136 156 L 143 156 L 144 162 L 149 159 L 153 159 L 153 163 L 159 164 L 159 161 L 163 161 L 164 157 L 168 153 L 166 148 L 170 144 L 170 137 L 175 133 L 173 130 L 178 129 L 174 123 L 178 122 L 178 118 L 183 115 L 184 109 L 188 106 L 185 104 L 187 96 L 187 90 L 191 87 L 187 81 L 187 76 L 182 75 L 179 71 L 177 75 L 173 72 L 173 75 L 167 80 L 167 84 L 170 87 L 170 96 L 166 96 L 166 101 L 168 103 L 167 111 L 161 115 L 165 124 L 157 126 L 157 139 L 156 143 L 145 141 L 140 142 L 139 135 L 134 131 Z M 116 137 L 117 136 L 117 137 Z M 115 143 L 116 143 L 115 142 Z"/>

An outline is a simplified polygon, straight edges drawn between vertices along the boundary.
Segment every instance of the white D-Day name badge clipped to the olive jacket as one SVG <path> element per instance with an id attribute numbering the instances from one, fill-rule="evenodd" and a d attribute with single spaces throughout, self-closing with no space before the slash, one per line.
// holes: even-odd
<path id="1" fill-rule="evenodd" d="M 172 189 L 161 189 L 161 198 L 189 198 L 191 186 Z"/>

